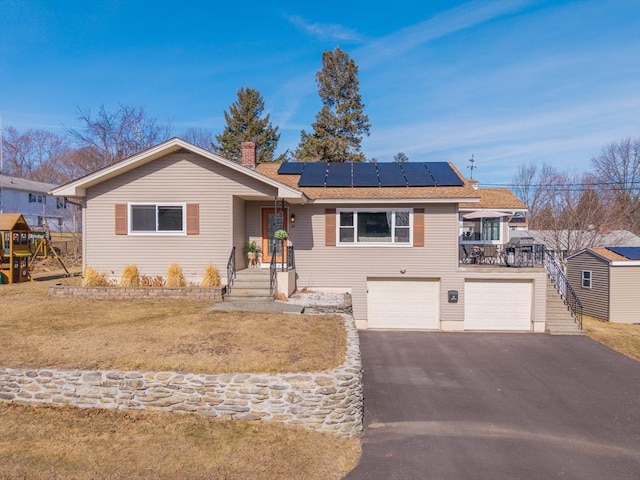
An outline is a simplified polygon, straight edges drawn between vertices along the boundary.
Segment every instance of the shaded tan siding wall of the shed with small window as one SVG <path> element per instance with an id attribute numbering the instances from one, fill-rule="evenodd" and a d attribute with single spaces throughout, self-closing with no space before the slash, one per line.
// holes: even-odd
<path id="1" fill-rule="evenodd" d="M 591 271 L 591 288 L 582 286 L 582 271 Z M 583 313 L 609 320 L 609 262 L 582 252 L 567 261 L 567 279 L 582 302 Z"/>

